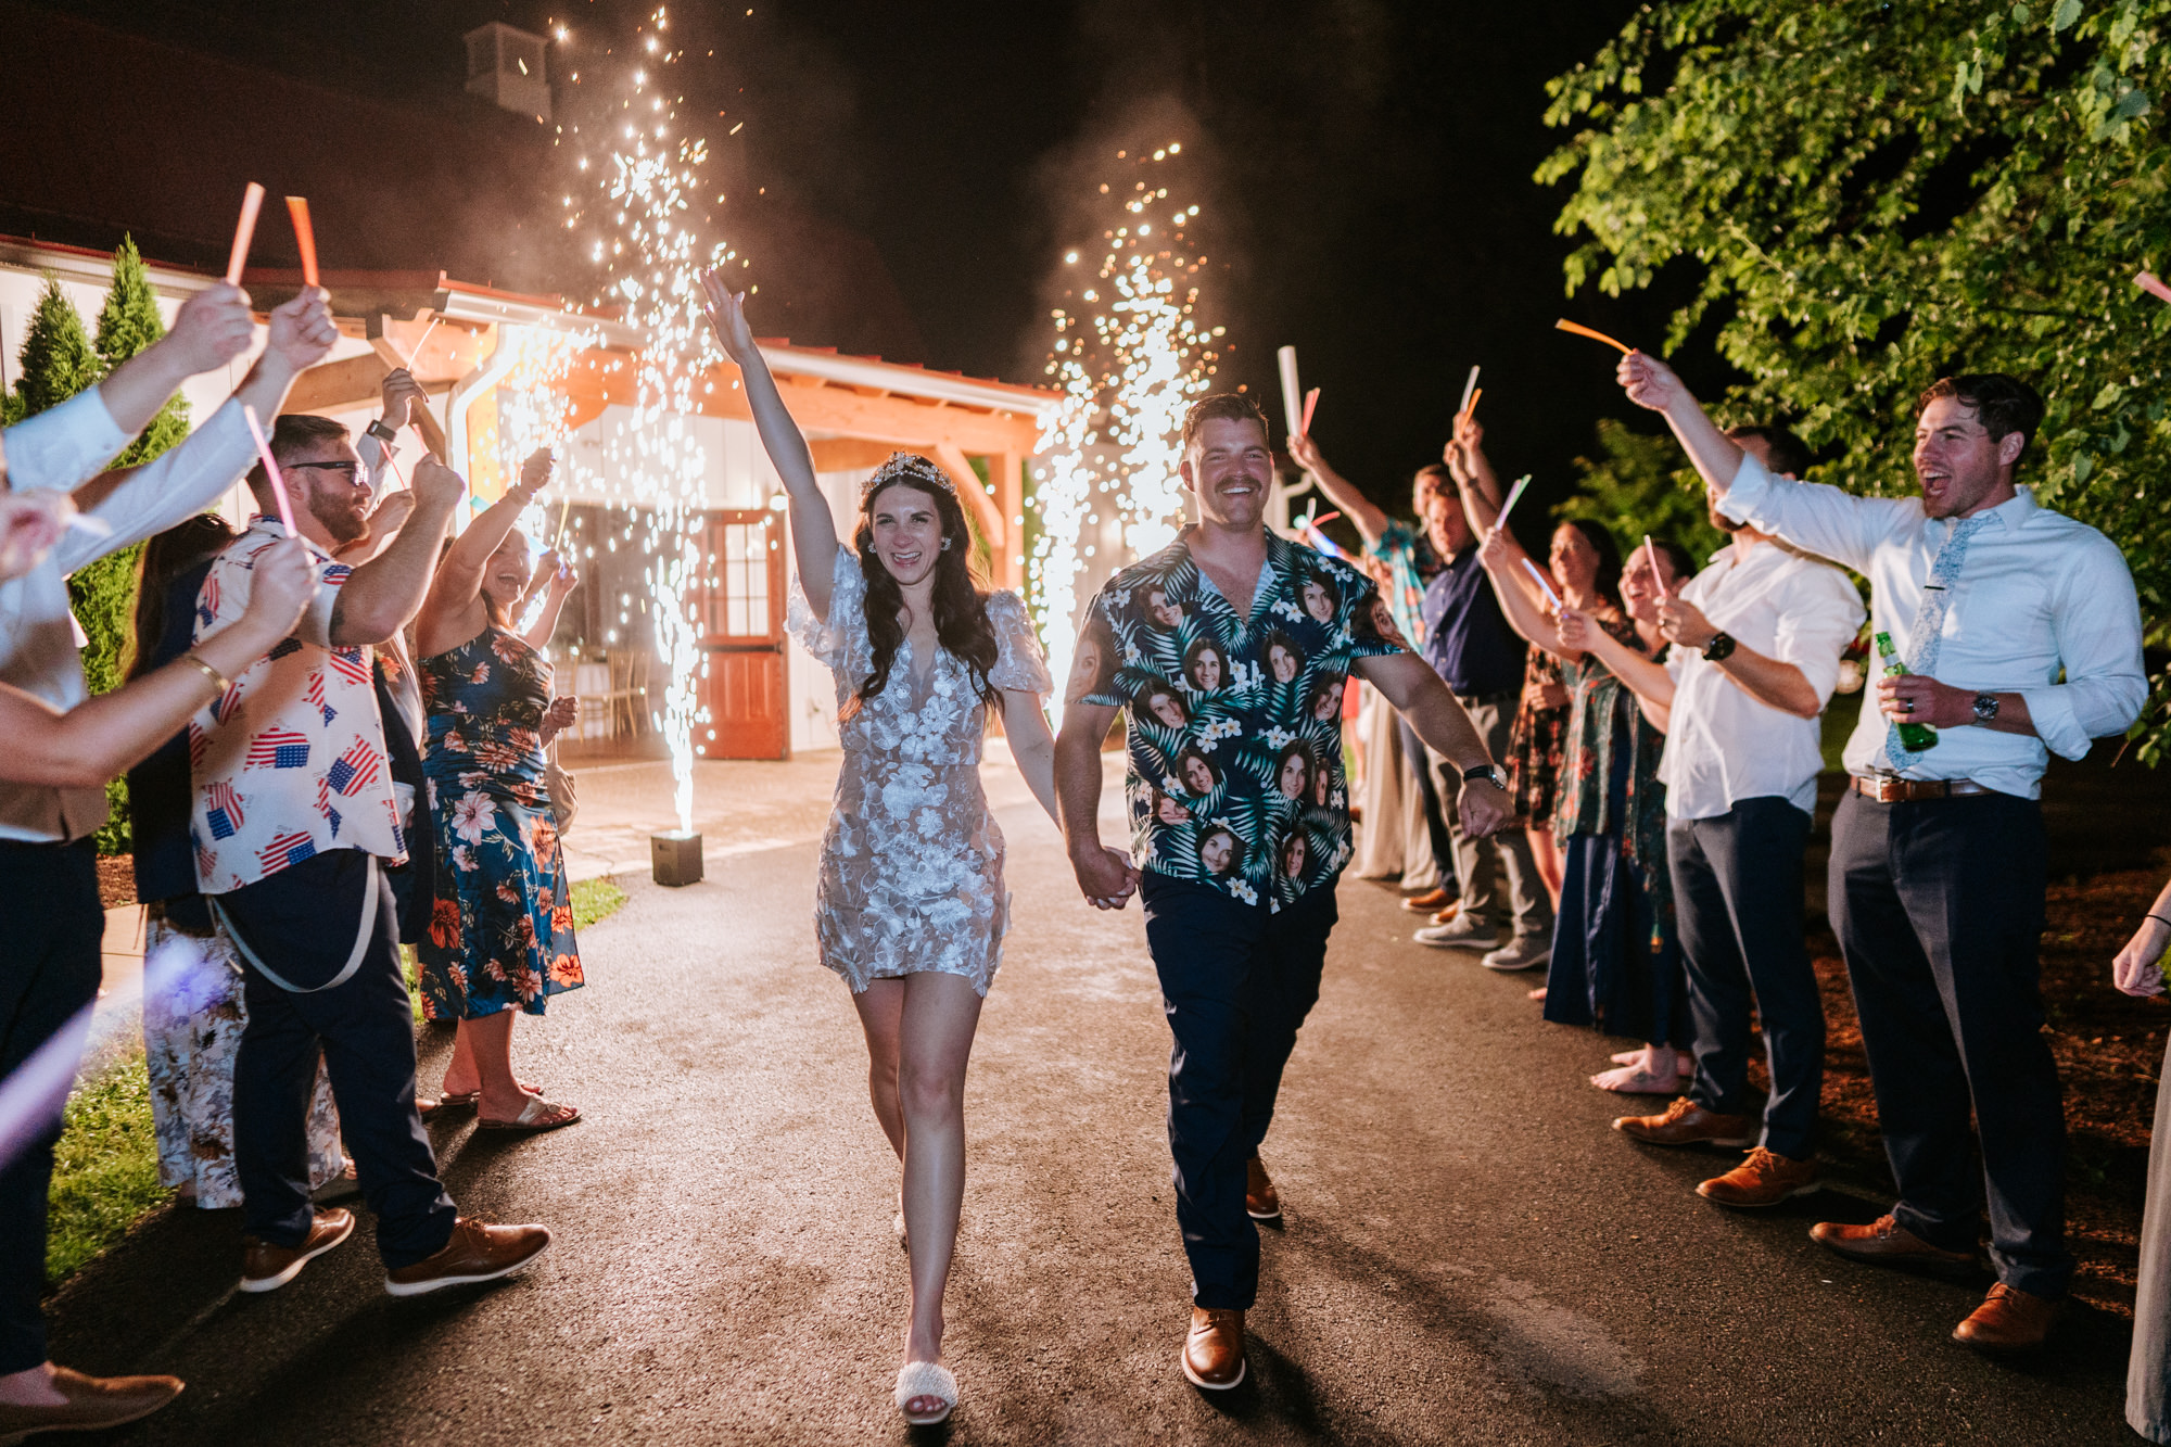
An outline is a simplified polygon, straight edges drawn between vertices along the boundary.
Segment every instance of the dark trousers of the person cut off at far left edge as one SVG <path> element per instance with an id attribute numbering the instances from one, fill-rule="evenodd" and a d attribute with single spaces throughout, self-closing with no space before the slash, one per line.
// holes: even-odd
<path id="1" fill-rule="evenodd" d="M 0 841 L 0 917 L 9 921 L 0 969 L 0 1080 L 98 999 L 98 850 Z M 80 1049 L 80 1041 L 76 1043 Z M 69 1067 L 74 1075 L 74 1067 Z M 0 1171 L 0 1373 L 46 1360 L 46 1197 L 52 1191 L 54 1115 Z"/>

